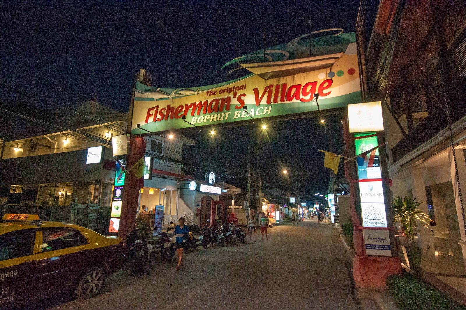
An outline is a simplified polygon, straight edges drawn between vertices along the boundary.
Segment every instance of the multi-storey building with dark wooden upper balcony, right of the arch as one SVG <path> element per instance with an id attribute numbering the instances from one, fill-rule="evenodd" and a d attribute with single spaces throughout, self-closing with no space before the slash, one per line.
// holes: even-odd
<path id="1" fill-rule="evenodd" d="M 466 184 L 465 27 L 464 1 L 382 0 L 361 51 L 364 101 L 382 101 L 384 109 L 391 195 L 424 202 L 420 209 L 432 220 L 417 237 L 421 268 L 432 272 L 442 256 L 464 273 L 456 169 Z"/>

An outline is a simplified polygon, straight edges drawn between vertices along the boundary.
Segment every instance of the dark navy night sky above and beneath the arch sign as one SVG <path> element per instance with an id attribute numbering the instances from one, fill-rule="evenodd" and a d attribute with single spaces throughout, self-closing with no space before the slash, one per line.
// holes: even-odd
<path id="1" fill-rule="evenodd" d="M 152 85 L 162 88 L 228 81 L 247 72 L 226 76 L 221 66 L 262 48 L 262 27 L 266 46 L 308 33 L 309 15 L 313 31 L 341 27 L 352 32 L 358 7 L 359 0 L 3 1 L 0 78 L 63 106 L 96 94 L 99 103 L 126 112 L 141 67 L 153 74 Z M 300 181 L 301 192 L 324 191 L 330 170 L 323 168 L 317 148 L 341 147 L 340 116 L 326 116 L 324 126 L 317 118 L 274 122 L 268 132 L 269 140 L 254 125 L 219 130 L 215 141 L 206 133 L 186 134 L 198 143 L 186 148 L 185 160 L 241 175 L 247 143 L 260 141 L 267 182 L 290 188 L 273 172 L 283 167 L 290 177 L 308 177 Z M 241 183 L 240 178 L 224 181 Z"/>

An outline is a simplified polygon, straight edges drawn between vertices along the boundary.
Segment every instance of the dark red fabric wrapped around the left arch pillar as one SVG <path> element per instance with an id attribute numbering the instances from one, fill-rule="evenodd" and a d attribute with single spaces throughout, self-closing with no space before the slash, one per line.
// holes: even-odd
<path id="1" fill-rule="evenodd" d="M 126 161 L 126 169 L 130 169 L 145 154 L 144 138 L 131 138 L 131 154 Z M 118 236 L 126 242 L 126 236 L 134 229 L 137 215 L 137 202 L 139 199 L 139 189 L 144 186 L 144 178 L 137 179 L 132 173 L 126 173 L 124 180 L 123 204 L 120 217 L 120 227 Z"/>

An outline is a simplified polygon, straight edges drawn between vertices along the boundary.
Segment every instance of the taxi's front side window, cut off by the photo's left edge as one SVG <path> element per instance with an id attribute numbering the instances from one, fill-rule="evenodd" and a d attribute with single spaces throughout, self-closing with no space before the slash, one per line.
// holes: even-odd
<path id="1" fill-rule="evenodd" d="M 0 261 L 32 255 L 37 229 L 21 229 L 0 236 Z"/>

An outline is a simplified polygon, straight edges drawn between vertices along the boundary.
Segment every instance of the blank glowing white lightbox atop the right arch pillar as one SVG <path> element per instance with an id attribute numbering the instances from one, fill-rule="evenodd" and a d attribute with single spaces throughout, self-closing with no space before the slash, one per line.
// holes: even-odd
<path id="1" fill-rule="evenodd" d="M 383 131 L 382 102 L 364 102 L 348 105 L 350 133 Z"/>

